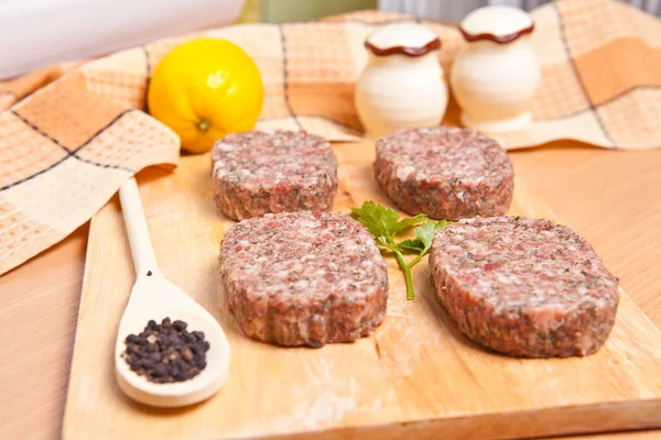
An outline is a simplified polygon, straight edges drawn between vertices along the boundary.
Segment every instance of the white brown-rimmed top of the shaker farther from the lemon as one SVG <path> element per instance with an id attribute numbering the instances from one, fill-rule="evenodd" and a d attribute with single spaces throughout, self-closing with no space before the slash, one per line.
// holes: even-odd
<path id="1" fill-rule="evenodd" d="M 469 42 L 490 40 L 506 44 L 533 29 L 532 18 L 525 11 L 505 4 L 476 9 L 459 23 L 464 38 Z"/>

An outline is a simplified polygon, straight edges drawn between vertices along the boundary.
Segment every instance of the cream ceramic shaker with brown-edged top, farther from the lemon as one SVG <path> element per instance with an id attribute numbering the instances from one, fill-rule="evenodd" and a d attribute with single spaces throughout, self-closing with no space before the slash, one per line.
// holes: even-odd
<path id="1" fill-rule="evenodd" d="M 519 130 L 532 120 L 541 69 L 530 43 L 531 16 L 513 7 L 476 9 L 460 22 L 467 41 L 451 72 L 462 123 L 484 132 Z"/>

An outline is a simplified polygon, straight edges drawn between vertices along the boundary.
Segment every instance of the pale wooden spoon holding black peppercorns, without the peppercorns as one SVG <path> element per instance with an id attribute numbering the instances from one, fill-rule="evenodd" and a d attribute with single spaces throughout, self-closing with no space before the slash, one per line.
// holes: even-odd
<path id="1" fill-rule="evenodd" d="M 181 288 L 161 274 L 149 238 L 147 220 L 136 179 L 119 189 L 119 199 L 131 244 L 137 279 L 123 316 L 119 322 L 115 344 L 115 373 L 119 387 L 132 399 L 158 407 L 178 407 L 196 404 L 213 396 L 223 386 L 229 373 L 229 344 L 218 321 Z M 170 317 L 188 323 L 187 330 L 204 331 L 209 342 L 207 365 L 195 377 L 169 384 L 149 382 L 131 371 L 121 354 L 128 334 L 143 331 L 150 319 L 160 322 Z"/>

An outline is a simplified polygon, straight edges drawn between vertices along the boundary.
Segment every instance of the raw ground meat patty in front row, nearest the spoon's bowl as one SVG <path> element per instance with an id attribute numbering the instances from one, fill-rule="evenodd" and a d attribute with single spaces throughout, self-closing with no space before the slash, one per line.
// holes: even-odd
<path id="1" fill-rule="evenodd" d="M 220 246 L 220 279 L 243 332 L 266 342 L 350 342 L 386 317 L 386 261 L 360 223 L 336 212 L 235 224 Z"/>

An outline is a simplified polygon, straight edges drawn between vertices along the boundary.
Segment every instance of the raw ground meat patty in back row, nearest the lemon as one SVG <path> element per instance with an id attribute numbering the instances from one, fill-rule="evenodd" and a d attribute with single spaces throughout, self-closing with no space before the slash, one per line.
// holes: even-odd
<path id="1" fill-rule="evenodd" d="M 330 144 L 302 131 L 229 134 L 214 145 L 212 163 L 218 212 L 235 220 L 328 210 L 337 191 Z"/>

